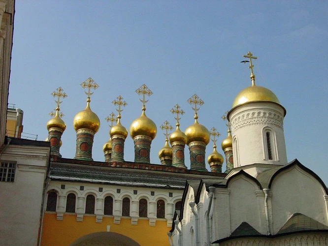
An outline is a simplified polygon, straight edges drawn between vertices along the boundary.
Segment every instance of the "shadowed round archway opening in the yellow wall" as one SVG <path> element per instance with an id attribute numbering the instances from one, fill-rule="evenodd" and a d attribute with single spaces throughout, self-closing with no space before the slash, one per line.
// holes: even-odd
<path id="1" fill-rule="evenodd" d="M 115 232 L 96 232 L 85 235 L 70 246 L 140 246 L 131 238 Z"/>

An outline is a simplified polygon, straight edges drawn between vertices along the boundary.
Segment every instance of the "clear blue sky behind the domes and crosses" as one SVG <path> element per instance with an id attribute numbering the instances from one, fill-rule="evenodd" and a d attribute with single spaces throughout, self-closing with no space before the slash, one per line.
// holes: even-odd
<path id="1" fill-rule="evenodd" d="M 175 125 L 169 110 L 177 103 L 186 112 L 181 130 L 193 124 L 187 99 L 195 93 L 205 102 L 198 122 L 217 128 L 219 143 L 226 137 L 221 116 L 251 85 L 248 65 L 240 63 L 251 51 L 258 57 L 257 85 L 287 109 L 288 160 L 297 158 L 328 184 L 327 13 L 326 1 L 17 0 L 9 103 L 24 111 L 24 132 L 44 140 L 56 106 L 51 92 L 61 86 L 68 95 L 61 104 L 67 125 L 61 154 L 72 158 L 73 118 L 86 106 L 80 84 L 92 77 L 99 88 L 91 108 L 101 122 L 93 158 L 103 161 L 109 138 L 104 118 L 116 113 L 111 102 L 122 95 L 128 103 L 121 122 L 129 131 L 141 114 L 135 90 L 146 84 L 153 92 L 146 115 L 158 127 L 151 163 L 160 164 L 165 137 L 159 126 L 165 120 Z M 212 143 L 206 155 L 211 152 Z M 133 156 L 128 136 L 125 160 Z"/>

